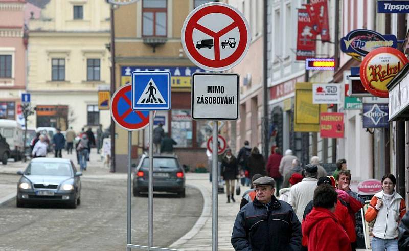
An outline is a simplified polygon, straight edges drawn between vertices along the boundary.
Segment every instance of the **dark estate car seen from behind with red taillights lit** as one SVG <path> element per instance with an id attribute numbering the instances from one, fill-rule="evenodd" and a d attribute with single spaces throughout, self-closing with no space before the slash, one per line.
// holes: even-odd
<path id="1" fill-rule="evenodd" d="M 148 192 L 149 157 L 142 155 L 133 175 L 133 196 Z M 185 170 L 175 155 L 153 155 L 153 191 L 185 197 Z"/>

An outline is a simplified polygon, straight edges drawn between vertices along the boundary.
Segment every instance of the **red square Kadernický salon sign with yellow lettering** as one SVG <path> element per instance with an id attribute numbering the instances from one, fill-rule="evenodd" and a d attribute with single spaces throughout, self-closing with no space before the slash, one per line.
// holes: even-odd
<path id="1" fill-rule="evenodd" d="M 344 138 L 344 113 L 320 113 L 321 138 Z"/>

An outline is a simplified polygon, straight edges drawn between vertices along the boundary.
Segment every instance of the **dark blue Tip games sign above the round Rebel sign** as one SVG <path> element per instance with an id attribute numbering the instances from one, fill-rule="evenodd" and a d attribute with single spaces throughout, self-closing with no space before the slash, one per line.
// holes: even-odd
<path id="1" fill-rule="evenodd" d="M 392 47 L 396 49 L 397 44 L 395 35 L 382 35 L 366 29 L 353 30 L 340 41 L 341 51 L 358 61 L 377 48 Z"/>

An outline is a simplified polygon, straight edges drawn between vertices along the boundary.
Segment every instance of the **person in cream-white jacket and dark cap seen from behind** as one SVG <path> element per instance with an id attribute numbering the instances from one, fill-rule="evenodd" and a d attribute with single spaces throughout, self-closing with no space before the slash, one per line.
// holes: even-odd
<path id="1" fill-rule="evenodd" d="M 290 189 L 288 203 L 292 206 L 297 214 L 298 220 L 303 220 L 305 207 L 314 197 L 314 189 L 318 182 L 316 178 L 318 168 L 315 165 L 308 164 L 304 167 L 305 178 L 300 183 Z"/>

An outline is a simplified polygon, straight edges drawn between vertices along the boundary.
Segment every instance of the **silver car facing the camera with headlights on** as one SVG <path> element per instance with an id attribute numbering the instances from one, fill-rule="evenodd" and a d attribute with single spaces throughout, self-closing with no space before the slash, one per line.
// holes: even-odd
<path id="1" fill-rule="evenodd" d="M 58 201 L 76 208 L 81 203 L 81 172 L 64 158 L 34 158 L 17 185 L 17 207 L 29 202 Z"/>

